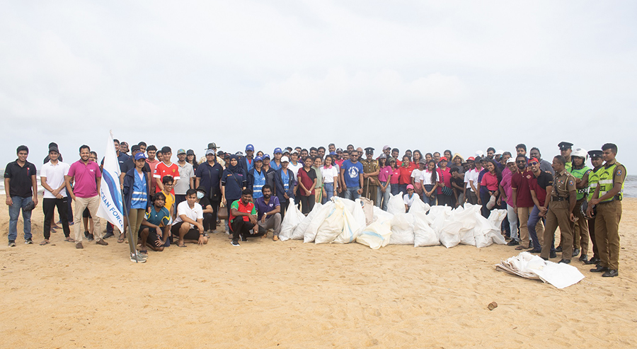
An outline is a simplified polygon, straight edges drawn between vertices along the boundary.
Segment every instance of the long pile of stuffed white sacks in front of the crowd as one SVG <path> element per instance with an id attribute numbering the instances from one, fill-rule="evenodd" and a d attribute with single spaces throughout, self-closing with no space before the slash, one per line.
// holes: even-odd
<path id="1" fill-rule="evenodd" d="M 305 217 L 296 205 L 290 205 L 279 238 L 303 240 L 315 244 L 349 244 L 356 241 L 377 249 L 388 244 L 437 246 L 447 248 L 465 244 L 478 248 L 505 244 L 500 224 L 506 210 L 491 211 L 488 219 L 480 214 L 480 205 L 466 203 L 453 209 L 430 207 L 416 198 L 406 213 L 402 193 L 391 196 L 387 212 L 367 199 L 355 201 L 332 198 L 317 203 Z"/>

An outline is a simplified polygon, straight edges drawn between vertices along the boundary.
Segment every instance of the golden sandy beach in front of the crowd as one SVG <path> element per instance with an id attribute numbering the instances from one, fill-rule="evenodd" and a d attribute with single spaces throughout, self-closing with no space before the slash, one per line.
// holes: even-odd
<path id="1" fill-rule="evenodd" d="M 134 264 L 116 239 L 76 250 L 59 229 L 39 246 L 41 205 L 35 244 L 23 244 L 20 223 L 9 248 L 5 206 L 0 347 L 634 347 L 636 208 L 624 200 L 619 277 L 574 258 L 586 278 L 558 290 L 496 271 L 517 255 L 496 245 L 373 251 L 253 239 L 237 248 L 221 232 L 207 246 L 149 251 Z"/>

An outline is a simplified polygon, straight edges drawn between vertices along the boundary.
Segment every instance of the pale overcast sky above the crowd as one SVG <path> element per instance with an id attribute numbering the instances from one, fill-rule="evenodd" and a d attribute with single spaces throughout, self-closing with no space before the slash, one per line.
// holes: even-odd
<path id="1" fill-rule="evenodd" d="M 102 156 L 113 130 L 197 156 L 614 142 L 636 168 L 635 18 L 635 1 L 2 1 L 0 160 Z"/>

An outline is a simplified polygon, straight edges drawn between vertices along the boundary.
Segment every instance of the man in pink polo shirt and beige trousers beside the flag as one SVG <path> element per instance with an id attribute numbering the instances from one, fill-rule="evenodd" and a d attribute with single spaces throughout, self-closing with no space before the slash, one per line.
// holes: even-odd
<path id="1" fill-rule="evenodd" d="M 100 225 L 100 217 L 97 216 L 97 210 L 100 207 L 100 180 L 102 173 L 100 166 L 94 161 L 90 161 L 88 156 L 91 154 L 91 148 L 88 145 L 80 147 L 80 158 L 71 164 L 69 174 L 64 176 L 67 182 L 67 193 L 71 199 L 75 200 L 75 248 L 84 248 L 82 245 L 81 222 L 82 213 L 88 207 L 88 212 L 93 217 L 95 223 L 95 239 L 96 244 L 106 246 L 108 242 L 102 239 L 102 227 Z M 71 179 L 74 179 L 75 186 L 71 188 Z"/>

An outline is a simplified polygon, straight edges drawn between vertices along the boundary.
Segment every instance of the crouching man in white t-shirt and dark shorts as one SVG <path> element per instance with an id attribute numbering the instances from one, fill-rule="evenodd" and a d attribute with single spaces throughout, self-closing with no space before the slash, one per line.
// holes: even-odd
<path id="1" fill-rule="evenodd" d="M 200 245 L 208 243 L 203 229 L 203 208 L 197 203 L 197 190 L 188 189 L 186 200 L 177 206 L 177 217 L 171 232 L 173 236 L 179 237 L 179 247 L 185 247 L 185 242 Z"/>

